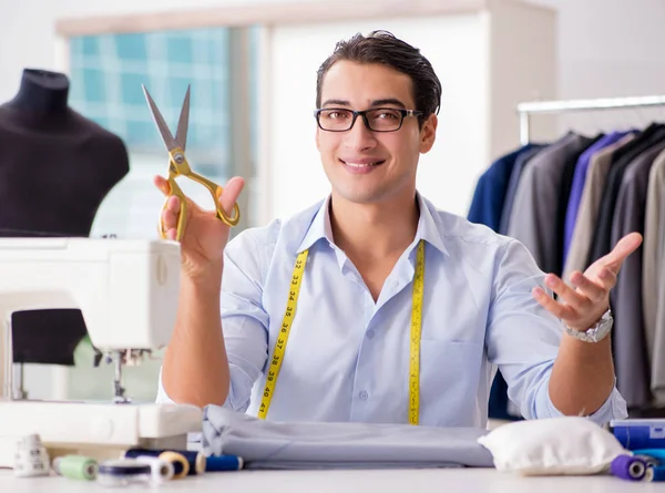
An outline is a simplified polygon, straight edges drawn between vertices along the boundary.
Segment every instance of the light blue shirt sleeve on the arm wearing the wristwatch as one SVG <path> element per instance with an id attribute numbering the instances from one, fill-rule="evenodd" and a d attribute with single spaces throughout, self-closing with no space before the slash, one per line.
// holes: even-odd
<path id="1" fill-rule="evenodd" d="M 485 333 L 488 359 L 501 370 L 508 396 L 525 419 L 563 415 L 549 393 L 563 328 L 532 296 L 535 286 L 551 294 L 544 273 L 524 245 L 509 239 L 497 255 L 494 279 Z M 590 418 L 603 424 L 626 415 L 625 400 L 614 387 Z"/>

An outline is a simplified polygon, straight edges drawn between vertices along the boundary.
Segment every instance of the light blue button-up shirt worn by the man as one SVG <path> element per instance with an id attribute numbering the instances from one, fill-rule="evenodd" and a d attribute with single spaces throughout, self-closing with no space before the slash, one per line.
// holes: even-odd
<path id="1" fill-rule="evenodd" d="M 328 199 L 252 228 L 225 250 L 225 407 L 257 415 L 296 256 L 309 248 L 268 420 L 408 423 L 416 250 L 424 247 L 420 424 L 485 427 L 493 373 L 526 419 L 561 415 L 548 383 L 563 333 L 531 290 L 543 273 L 519 242 L 437 210 L 420 195 L 416 238 L 378 300 L 332 239 Z M 161 382 L 157 402 L 168 402 Z M 627 417 L 616 388 L 591 417 Z"/>

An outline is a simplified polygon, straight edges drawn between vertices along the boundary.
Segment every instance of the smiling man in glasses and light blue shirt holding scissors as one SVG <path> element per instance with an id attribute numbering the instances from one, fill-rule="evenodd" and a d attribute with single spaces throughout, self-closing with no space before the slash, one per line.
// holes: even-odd
<path id="1" fill-rule="evenodd" d="M 190 208 L 158 401 L 270 420 L 483 427 L 494 363 L 525 418 L 626 415 L 603 315 L 640 235 L 574 273 L 572 289 L 514 239 L 437 210 L 416 172 L 440 96 L 430 63 L 391 34 L 338 43 L 317 80 L 329 197 L 228 245 L 227 226 Z M 242 188 L 236 177 L 224 189 L 229 213 Z M 175 237 L 168 201 L 162 220 Z M 574 337 L 596 323 L 597 342 Z"/>

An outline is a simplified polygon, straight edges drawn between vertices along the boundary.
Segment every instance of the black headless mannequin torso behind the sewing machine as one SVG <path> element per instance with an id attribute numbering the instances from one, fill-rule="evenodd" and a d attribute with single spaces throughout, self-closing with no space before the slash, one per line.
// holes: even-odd
<path id="1" fill-rule="evenodd" d="M 0 236 L 89 236 L 129 172 L 122 140 L 70 109 L 68 94 L 66 75 L 27 69 L 0 105 Z M 85 335 L 79 310 L 17 312 L 12 328 L 21 362 L 73 364 Z"/>

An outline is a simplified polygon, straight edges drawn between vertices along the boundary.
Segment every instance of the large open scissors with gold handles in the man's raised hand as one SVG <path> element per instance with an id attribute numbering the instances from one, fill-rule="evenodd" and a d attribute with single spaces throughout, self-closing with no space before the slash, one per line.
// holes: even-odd
<path id="1" fill-rule="evenodd" d="M 166 150 L 168 151 L 168 178 L 167 178 L 167 182 L 168 182 L 168 186 L 171 188 L 170 196 L 175 195 L 180 198 L 180 207 L 181 208 L 180 208 L 180 217 L 177 219 L 177 228 L 176 228 L 175 239 L 178 242 L 181 240 L 181 238 L 183 236 L 183 230 L 185 227 L 185 220 L 186 220 L 185 218 L 187 215 L 186 214 L 187 213 L 186 196 L 183 193 L 183 191 L 181 189 L 181 187 L 177 186 L 177 183 L 175 183 L 175 178 L 177 178 L 181 175 L 202 184 L 209 191 L 209 193 L 213 195 L 213 199 L 215 201 L 215 208 L 217 212 L 216 216 L 218 219 L 221 219 L 224 224 L 226 224 L 228 226 L 235 226 L 236 224 L 238 224 L 238 220 L 241 220 L 241 208 L 238 207 L 238 204 L 237 203 L 234 204 L 233 217 L 228 217 L 226 212 L 222 208 L 222 204 L 219 204 L 219 197 L 222 196 L 222 192 L 224 192 L 224 188 L 222 188 L 216 183 L 207 179 L 205 176 L 202 176 L 198 173 L 193 172 L 192 168 L 190 167 L 190 163 L 187 162 L 187 157 L 185 156 L 185 146 L 187 144 L 187 129 L 190 126 L 190 86 L 187 86 L 187 92 L 185 93 L 185 101 L 181 109 L 180 119 L 177 121 L 177 130 L 175 132 L 175 138 L 173 138 L 173 134 L 168 130 L 168 125 L 166 125 L 166 122 L 164 121 L 162 113 L 160 112 L 160 110 L 157 109 L 157 105 L 155 104 L 152 96 L 147 92 L 147 89 L 145 89 L 145 85 L 142 85 L 142 88 L 143 88 L 143 93 L 145 94 L 145 99 L 147 100 L 147 105 L 150 106 L 150 111 L 152 113 L 153 120 L 155 121 L 155 124 L 157 125 L 160 134 L 162 135 L 162 140 L 164 141 L 164 144 L 166 144 Z M 168 202 L 168 198 L 166 198 L 166 202 Z M 166 203 L 164 203 L 164 207 L 165 206 L 166 206 Z M 162 207 L 162 210 L 164 210 L 164 207 Z M 162 222 L 161 215 L 160 215 L 160 236 L 162 238 L 166 239 L 166 232 L 164 230 L 164 224 Z"/>

